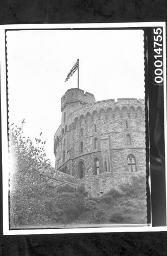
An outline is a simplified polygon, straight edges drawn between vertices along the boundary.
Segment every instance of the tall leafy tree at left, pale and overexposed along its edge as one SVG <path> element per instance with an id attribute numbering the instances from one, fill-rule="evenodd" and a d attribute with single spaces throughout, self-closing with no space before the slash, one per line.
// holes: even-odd
<path id="1" fill-rule="evenodd" d="M 23 125 L 12 124 L 9 128 L 10 141 L 10 226 L 39 225 L 41 216 L 47 220 L 47 204 L 44 197 L 51 191 L 49 175 L 44 170 L 50 167 L 44 144 L 35 138 L 23 136 Z M 42 224 L 42 223 L 41 223 Z"/>

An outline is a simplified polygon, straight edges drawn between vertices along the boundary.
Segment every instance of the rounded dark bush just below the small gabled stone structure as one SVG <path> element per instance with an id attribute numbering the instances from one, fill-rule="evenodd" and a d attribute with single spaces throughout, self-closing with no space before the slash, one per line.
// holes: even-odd
<path id="1" fill-rule="evenodd" d="M 76 220 L 84 207 L 81 193 L 59 193 L 51 203 L 52 218 L 58 222 L 68 223 Z"/>

